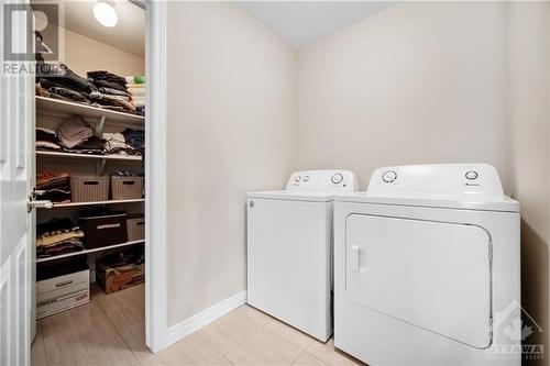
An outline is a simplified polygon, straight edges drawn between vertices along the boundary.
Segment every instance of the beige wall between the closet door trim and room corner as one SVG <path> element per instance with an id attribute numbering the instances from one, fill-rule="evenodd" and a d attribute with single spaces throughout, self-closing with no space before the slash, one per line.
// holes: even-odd
<path id="1" fill-rule="evenodd" d="M 295 54 L 231 2 L 169 2 L 167 34 L 172 325 L 245 289 L 246 191 L 292 173 Z"/>

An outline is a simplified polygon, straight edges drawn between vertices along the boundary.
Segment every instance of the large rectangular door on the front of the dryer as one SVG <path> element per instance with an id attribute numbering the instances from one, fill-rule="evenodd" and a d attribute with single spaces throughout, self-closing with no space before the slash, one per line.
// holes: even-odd
<path id="1" fill-rule="evenodd" d="M 345 291 L 373 311 L 485 348 L 492 343 L 491 245 L 481 226 L 351 214 Z"/>

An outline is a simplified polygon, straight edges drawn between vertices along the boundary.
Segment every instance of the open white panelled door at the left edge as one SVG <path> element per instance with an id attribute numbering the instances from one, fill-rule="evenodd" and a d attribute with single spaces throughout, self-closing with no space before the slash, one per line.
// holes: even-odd
<path id="1" fill-rule="evenodd" d="M 4 3 L 0 2 L 0 19 L 4 19 Z M 30 24 L 24 16 L 16 19 L 11 40 L 25 49 Z M 3 31 L 2 22 L 0 49 L 6 52 Z M 30 364 L 32 88 L 33 77 L 28 74 L 0 75 L 0 365 Z"/>

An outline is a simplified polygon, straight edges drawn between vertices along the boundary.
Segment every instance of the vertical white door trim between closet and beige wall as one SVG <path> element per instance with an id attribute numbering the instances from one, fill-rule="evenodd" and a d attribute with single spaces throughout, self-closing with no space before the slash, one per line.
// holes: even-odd
<path id="1" fill-rule="evenodd" d="M 146 0 L 145 73 L 145 344 L 167 346 L 166 18 L 167 1 Z"/>

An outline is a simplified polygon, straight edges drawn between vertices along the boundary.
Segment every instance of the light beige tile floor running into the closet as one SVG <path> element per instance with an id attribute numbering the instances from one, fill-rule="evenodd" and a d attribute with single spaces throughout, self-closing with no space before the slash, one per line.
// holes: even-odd
<path id="1" fill-rule="evenodd" d="M 242 306 L 170 347 L 145 347 L 143 286 L 37 322 L 32 365 L 362 365 L 327 344 Z"/>

